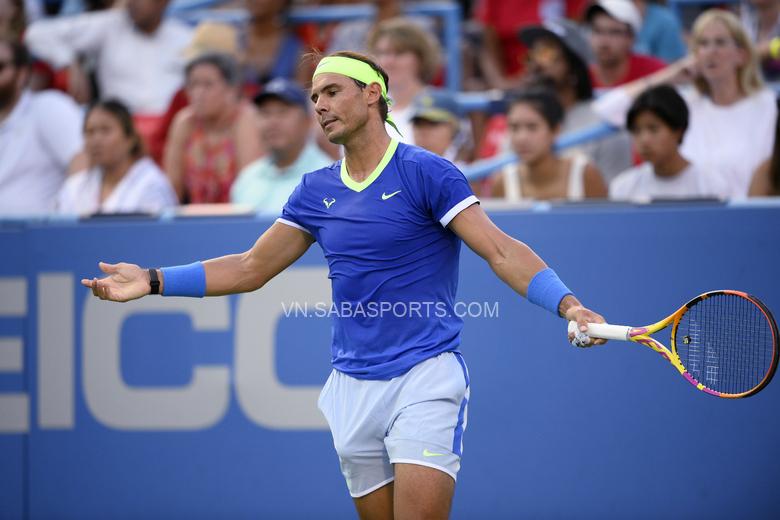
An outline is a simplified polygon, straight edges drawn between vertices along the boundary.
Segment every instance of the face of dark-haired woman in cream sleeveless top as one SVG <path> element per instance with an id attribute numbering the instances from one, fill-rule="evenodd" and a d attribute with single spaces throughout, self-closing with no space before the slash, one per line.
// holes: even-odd
<path id="1" fill-rule="evenodd" d="M 555 129 L 531 105 L 517 103 L 507 114 L 512 150 L 526 163 L 534 163 L 552 153 Z"/>

